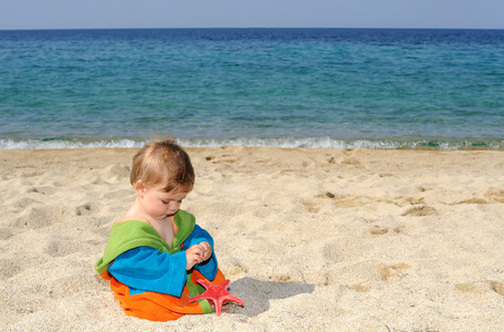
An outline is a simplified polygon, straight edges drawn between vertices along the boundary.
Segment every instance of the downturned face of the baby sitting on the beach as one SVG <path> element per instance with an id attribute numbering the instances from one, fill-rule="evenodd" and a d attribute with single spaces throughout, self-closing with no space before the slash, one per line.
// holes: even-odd
<path id="1" fill-rule="evenodd" d="M 166 193 L 164 188 L 165 186 L 158 185 L 149 188 L 140 187 L 137 190 L 145 212 L 158 220 L 175 215 L 188 194 L 186 191 Z"/>

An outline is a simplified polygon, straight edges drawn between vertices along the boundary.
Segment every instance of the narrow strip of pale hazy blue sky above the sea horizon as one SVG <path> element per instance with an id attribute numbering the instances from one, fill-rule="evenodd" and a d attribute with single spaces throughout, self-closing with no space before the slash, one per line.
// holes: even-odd
<path id="1" fill-rule="evenodd" d="M 504 29 L 504 0 L 0 0 L 0 30 Z"/>

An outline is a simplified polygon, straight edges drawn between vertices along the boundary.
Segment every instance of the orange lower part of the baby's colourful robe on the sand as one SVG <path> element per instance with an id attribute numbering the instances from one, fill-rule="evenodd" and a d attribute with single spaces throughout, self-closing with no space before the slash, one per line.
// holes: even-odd
<path id="1" fill-rule="evenodd" d="M 198 302 L 189 303 L 191 295 L 187 286 L 183 287 L 180 298 L 156 292 L 129 295 L 129 288 L 108 272 L 103 273 L 102 278 L 111 280 L 111 289 L 115 292 L 114 298 L 119 301 L 127 315 L 165 322 L 179 319 L 185 314 L 203 313 Z M 192 282 L 197 283 L 198 279 L 207 280 L 213 284 L 220 284 L 225 281 L 224 274 L 220 270 L 217 271 L 217 276 L 212 281 L 193 270 L 191 273 Z"/>

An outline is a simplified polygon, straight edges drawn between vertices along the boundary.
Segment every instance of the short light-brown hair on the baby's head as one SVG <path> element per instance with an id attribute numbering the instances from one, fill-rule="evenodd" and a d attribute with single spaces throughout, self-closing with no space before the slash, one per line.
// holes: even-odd
<path id="1" fill-rule="evenodd" d="M 147 144 L 133 157 L 129 183 L 145 187 L 165 184 L 164 190 L 187 191 L 195 185 L 195 169 L 189 155 L 172 139 Z"/>

